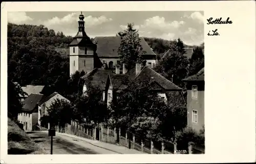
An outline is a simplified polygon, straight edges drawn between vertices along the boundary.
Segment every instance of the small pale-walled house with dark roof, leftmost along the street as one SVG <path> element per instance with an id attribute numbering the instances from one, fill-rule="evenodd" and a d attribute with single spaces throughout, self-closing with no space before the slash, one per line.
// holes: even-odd
<path id="1" fill-rule="evenodd" d="M 24 101 L 22 112 L 18 114 L 19 123 L 23 124 L 24 130 L 34 130 L 38 120 L 37 103 L 42 99 L 42 94 L 30 94 Z"/>

